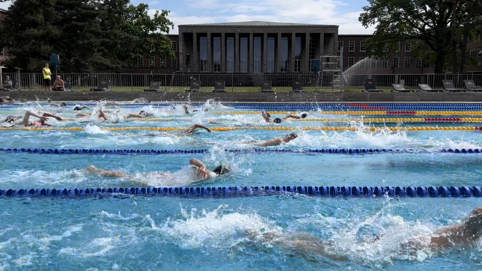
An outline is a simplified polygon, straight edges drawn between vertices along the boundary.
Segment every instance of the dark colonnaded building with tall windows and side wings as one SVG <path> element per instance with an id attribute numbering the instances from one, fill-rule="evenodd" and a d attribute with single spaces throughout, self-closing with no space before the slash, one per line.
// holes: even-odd
<path id="1" fill-rule="evenodd" d="M 173 42 L 175 58 L 140 57 L 129 73 L 297 74 L 313 72 L 312 60 L 339 55 L 343 70 L 355 66 L 366 74 L 433 74 L 433 67 L 416 58 L 416 41 L 402 41 L 388 59 L 366 59 L 365 39 L 371 35 L 343 35 L 337 25 L 239 22 L 179 25 Z M 467 55 L 482 63 L 482 48 L 470 41 Z M 482 72 L 471 65 L 467 72 Z"/>

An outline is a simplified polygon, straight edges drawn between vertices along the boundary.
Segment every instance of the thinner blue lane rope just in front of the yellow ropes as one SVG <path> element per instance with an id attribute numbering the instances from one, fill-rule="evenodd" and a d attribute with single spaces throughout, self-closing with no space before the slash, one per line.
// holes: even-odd
<path id="1" fill-rule="evenodd" d="M 52 149 L 52 148 L 0 148 L 4 152 L 25 152 L 25 153 L 39 153 L 39 154 L 181 154 L 181 153 L 209 153 L 208 149 Z M 320 148 L 320 149 L 269 149 L 269 148 L 255 148 L 255 149 L 225 149 L 226 152 L 233 153 L 258 153 L 258 152 L 302 152 L 302 153 L 326 153 L 326 154 L 376 154 L 376 153 L 433 153 L 433 151 L 423 149 L 387 149 L 387 148 Z M 482 149 L 442 149 L 441 153 L 482 153 Z"/>

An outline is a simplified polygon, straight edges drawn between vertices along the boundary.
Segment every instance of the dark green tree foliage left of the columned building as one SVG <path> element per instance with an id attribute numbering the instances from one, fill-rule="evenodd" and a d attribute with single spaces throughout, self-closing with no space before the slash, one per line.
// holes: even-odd
<path id="1" fill-rule="evenodd" d="M 0 28 L 13 57 L 1 64 L 38 71 L 54 53 L 63 72 L 115 72 L 139 56 L 173 56 L 169 11 L 148 10 L 129 0 L 13 0 Z"/>

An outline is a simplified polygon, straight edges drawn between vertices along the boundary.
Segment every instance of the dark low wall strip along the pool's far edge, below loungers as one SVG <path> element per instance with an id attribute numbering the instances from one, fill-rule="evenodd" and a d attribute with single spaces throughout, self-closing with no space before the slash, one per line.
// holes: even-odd
<path id="1" fill-rule="evenodd" d="M 89 91 L 18 91 L 0 92 L 0 96 L 27 100 L 115 100 L 204 102 L 482 102 L 482 92 L 410 92 L 410 93 L 212 93 L 212 92 L 89 92 Z"/>

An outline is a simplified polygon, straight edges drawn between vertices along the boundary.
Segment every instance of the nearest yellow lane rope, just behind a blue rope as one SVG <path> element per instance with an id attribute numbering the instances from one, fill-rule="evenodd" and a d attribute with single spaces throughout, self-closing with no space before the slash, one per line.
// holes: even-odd
<path id="1" fill-rule="evenodd" d="M 214 132 L 226 132 L 234 130 L 281 130 L 281 131 L 293 131 L 293 130 L 311 130 L 311 131 L 376 131 L 376 130 L 391 130 L 391 131 L 461 131 L 478 130 L 479 127 L 323 127 L 323 126 L 311 126 L 311 127 L 269 127 L 269 126 L 246 126 L 246 127 L 213 127 Z M 148 131 L 181 131 L 187 128 L 180 127 L 102 127 L 103 130 L 111 131 L 129 131 L 129 130 L 148 130 Z M 69 130 L 69 131 L 83 131 L 84 127 L 0 127 L 0 130 Z"/>

